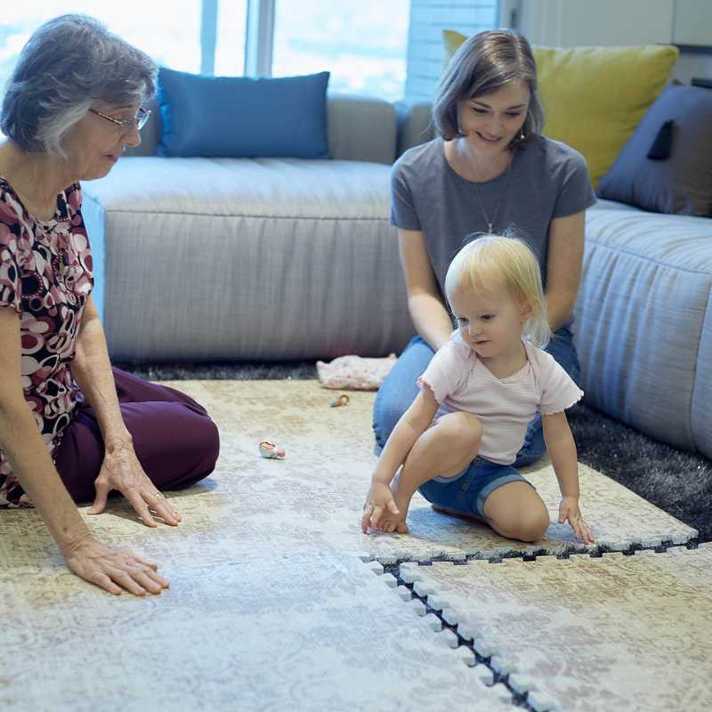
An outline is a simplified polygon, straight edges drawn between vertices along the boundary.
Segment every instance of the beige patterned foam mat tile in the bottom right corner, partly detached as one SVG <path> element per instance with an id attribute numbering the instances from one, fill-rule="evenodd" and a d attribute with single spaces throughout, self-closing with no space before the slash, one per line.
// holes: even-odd
<path id="1" fill-rule="evenodd" d="M 401 564 L 537 709 L 712 709 L 712 545 Z"/>

